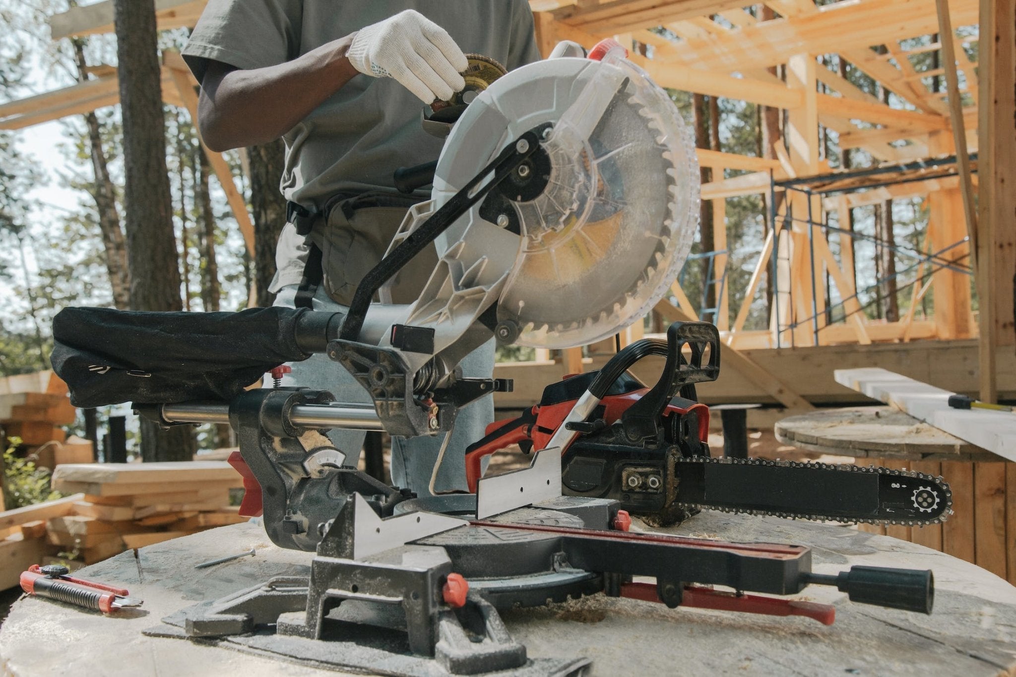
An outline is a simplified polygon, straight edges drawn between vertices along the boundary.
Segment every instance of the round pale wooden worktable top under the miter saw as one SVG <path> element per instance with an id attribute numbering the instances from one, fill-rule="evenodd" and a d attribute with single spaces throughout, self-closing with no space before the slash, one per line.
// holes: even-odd
<path id="1" fill-rule="evenodd" d="M 637 525 L 640 523 L 636 523 Z M 588 657 L 596 675 L 997 675 L 1016 667 L 1016 588 L 940 552 L 846 526 L 703 513 L 663 531 L 813 548 L 814 569 L 851 564 L 932 568 L 931 616 L 850 604 L 831 588 L 809 599 L 836 605 L 831 626 L 809 618 L 668 609 L 601 595 L 502 615 L 530 657 Z M 257 548 L 255 557 L 196 571 L 194 564 Z M 17 602 L 0 627 L 0 665 L 13 675 L 325 675 L 310 667 L 142 631 L 204 599 L 278 574 L 311 555 L 270 545 L 239 524 L 130 552 L 79 576 L 122 585 L 143 610 L 103 617 L 48 600 Z M 141 581 L 139 582 L 139 576 Z M 433 674 L 439 674 L 435 671 Z M 502 673 L 503 674 L 503 673 Z"/>

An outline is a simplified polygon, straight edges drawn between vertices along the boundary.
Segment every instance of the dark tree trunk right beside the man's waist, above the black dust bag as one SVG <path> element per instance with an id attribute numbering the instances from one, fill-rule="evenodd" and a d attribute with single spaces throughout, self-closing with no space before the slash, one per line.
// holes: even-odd
<path id="1" fill-rule="evenodd" d="M 285 198 L 278 186 L 285 167 L 285 144 L 281 139 L 247 149 L 251 172 L 251 209 L 254 212 L 254 286 L 257 304 L 271 306 L 275 294 L 268 291 L 275 276 L 275 245 L 285 225 Z"/>

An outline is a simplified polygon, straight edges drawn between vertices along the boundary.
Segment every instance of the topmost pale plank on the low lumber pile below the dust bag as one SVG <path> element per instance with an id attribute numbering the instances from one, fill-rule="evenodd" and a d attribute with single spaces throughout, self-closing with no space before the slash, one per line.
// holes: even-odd
<path id="1" fill-rule="evenodd" d="M 239 477 L 237 471 L 226 461 L 88 463 L 60 466 L 53 473 L 54 483 L 63 481 L 109 484 L 164 482 L 163 492 L 170 487 L 173 490 L 180 490 L 182 488 L 178 486 L 180 483 L 233 482 L 237 477 Z"/>

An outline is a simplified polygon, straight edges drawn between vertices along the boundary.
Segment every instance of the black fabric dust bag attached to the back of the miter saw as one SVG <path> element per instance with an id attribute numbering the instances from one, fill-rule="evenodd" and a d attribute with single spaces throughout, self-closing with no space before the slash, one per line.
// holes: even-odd
<path id="1" fill-rule="evenodd" d="M 308 311 L 141 313 L 65 308 L 53 319 L 53 370 L 76 407 L 231 400 L 282 362 Z"/>

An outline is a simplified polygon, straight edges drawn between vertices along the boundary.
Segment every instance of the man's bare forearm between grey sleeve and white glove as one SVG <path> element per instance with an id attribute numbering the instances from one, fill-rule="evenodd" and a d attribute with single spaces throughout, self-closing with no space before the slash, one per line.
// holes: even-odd
<path id="1" fill-rule="evenodd" d="M 338 91 L 359 71 L 347 36 L 277 66 L 240 70 L 209 61 L 201 80 L 198 125 L 215 151 L 273 141 Z"/>

